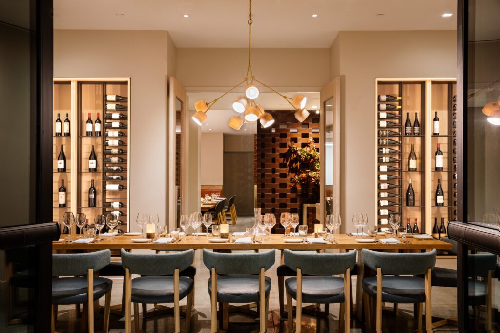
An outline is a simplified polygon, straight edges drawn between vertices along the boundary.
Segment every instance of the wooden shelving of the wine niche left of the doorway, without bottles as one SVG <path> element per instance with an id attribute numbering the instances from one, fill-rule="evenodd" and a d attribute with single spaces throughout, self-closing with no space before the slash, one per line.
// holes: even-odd
<path id="1" fill-rule="evenodd" d="M 127 97 L 121 101 L 107 101 L 107 95 L 120 95 Z M 107 104 L 116 103 L 126 106 L 123 110 L 108 110 Z M 65 119 L 65 113 L 69 113 L 70 132 L 69 137 L 54 136 L 53 159 L 54 169 L 56 169 L 57 155 L 59 154 L 60 144 L 64 145 L 66 155 L 67 172 L 53 173 L 53 220 L 61 223 L 64 212 L 72 211 L 73 214 L 85 213 L 88 223 L 93 224 L 96 214 L 110 213 L 111 211 L 121 212 L 118 216 L 119 225 L 117 229 L 122 231 L 129 230 L 129 209 L 130 207 L 130 79 L 129 78 L 54 78 L 54 108 L 55 119 L 57 113 L 60 113 L 61 121 Z M 86 120 L 88 113 L 91 114 L 93 129 L 97 112 L 101 121 L 101 135 L 86 135 Z M 125 115 L 120 119 L 106 119 L 106 114 L 121 113 Z M 105 124 L 111 124 L 112 121 L 121 122 L 125 126 L 118 128 L 106 127 Z M 106 131 L 121 131 L 125 136 L 107 137 Z M 55 129 L 54 129 L 55 131 Z M 122 146 L 108 146 L 106 140 L 121 140 Z M 97 156 L 97 171 L 88 171 L 88 157 L 91 147 L 94 145 L 94 151 Z M 121 148 L 123 153 L 104 154 L 104 149 Z M 104 162 L 105 158 L 119 157 L 122 163 Z M 123 171 L 105 171 L 107 166 L 120 166 Z M 124 179 L 106 180 L 106 176 L 120 175 Z M 57 201 L 57 192 L 60 186 L 60 180 L 64 179 L 66 187 L 66 207 L 59 208 Z M 91 180 L 94 181 L 96 189 L 96 207 L 88 207 L 88 189 Z M 107 190 L 106 184 L 120 184 L 123 190 Z M 124 204 L 121 208 L 105 207 L 106 203 L 118 201 Z M 73 231 L 75 231 L 73 227 Z M 107 227 L 106 227 L 107 228 Z"/>

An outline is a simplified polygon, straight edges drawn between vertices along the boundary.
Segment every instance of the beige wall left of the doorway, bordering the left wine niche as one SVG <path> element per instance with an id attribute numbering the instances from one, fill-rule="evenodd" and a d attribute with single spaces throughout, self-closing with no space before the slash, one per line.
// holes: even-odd
<path id="1" fill-rule="evenodd" d="M 158 212 L 165 221 L 166 92 L 174 47 L 167 31 L 54 30 L 54 76 L 131 78 L 130 221 L 137 212 Z"/>

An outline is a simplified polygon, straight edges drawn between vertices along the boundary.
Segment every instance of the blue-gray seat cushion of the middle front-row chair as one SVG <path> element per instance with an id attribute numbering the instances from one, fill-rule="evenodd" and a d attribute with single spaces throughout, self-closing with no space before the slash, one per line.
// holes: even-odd
<path id="1" fill-rule="evenodd" d="M 271 279 L 264 278 L 264 295 L 269 296 Z M 208 294 L 212 296 L 212 279 L 208 279 Z M 217 301 L 222 303 L 258 303 L 258 275 L 217 276 Z"/>

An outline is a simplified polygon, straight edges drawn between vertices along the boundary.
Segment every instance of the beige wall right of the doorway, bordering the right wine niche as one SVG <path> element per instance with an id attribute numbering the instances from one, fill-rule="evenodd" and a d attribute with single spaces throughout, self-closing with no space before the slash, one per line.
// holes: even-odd
<path id="1" fill-rule="evenodd" d="M 455 77 L 456 31 L 341 31 L 330 47 L 331 78 L 341 77 L 341 214 L 374 223 L 375 78 Z M 338 72 L 337 72 L 338 69 Z"/>

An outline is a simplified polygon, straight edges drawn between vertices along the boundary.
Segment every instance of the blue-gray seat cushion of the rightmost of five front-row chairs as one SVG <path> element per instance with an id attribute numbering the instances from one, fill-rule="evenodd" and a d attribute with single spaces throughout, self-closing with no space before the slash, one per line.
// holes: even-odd
<path id="1" fill-rule="evenodd" d="M 424 280 L 408 276 L 384 276 L 382 278 L 382 302 L 425 302 Z M 363 290 L 376 299 L 376 277 L 363 279 Z"/>

